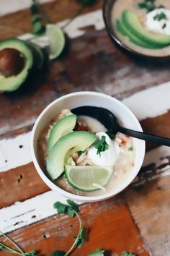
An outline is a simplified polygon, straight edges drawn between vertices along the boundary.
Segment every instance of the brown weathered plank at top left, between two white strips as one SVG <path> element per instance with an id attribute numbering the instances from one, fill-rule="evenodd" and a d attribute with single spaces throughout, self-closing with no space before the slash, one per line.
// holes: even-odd
<path id="1" fill-rule="evenodd" d="M 48 20 L 51 23 L 61 22 L 73 17 L 81 8 L 76 0 L 52 1 L 42 5 Z M 69 7 L 69 8 L 68 8 Z M 98 0 L 97 4 L 86 7 L 82 14 L 102 8 L 102 0 Z M 24 20 L 24 22 L 23 22 Z M 30 10 L 24 9 L 12 14 L 6 14 L 0 17 L 0 40 L 9 37 L 16 37 L 23 33 L 32 31 L 30 22 Z"/>

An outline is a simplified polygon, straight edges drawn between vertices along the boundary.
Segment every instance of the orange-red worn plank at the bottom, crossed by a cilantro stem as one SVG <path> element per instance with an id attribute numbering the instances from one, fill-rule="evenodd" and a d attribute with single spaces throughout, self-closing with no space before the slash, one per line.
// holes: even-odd
<path id="1" fill-rule="evenodd" d="M 80 215 L 88 228 L 89 239 L 73 255 L 88 255 L 97 248 L 106 249 L 110 252 L 108 255 L 120 255 L 125 250 L 136 252 L 139 256 L 148 255 L 121 197 L 82 205 Z M 10 236 L 26 250 L 37 249 L 40 250 L 40 255 L 50 256 L 57 249 L 66 250 L 71 247 L 73 236 L 77 232 L 76 218 L 53 216 L 14 231 Z"/>

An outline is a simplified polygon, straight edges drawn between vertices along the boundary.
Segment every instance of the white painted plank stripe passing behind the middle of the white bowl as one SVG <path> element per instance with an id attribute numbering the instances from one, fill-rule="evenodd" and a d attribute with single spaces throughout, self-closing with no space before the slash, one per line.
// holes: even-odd
<path id="1" fill-rule="evenodd" d="M 142 90 L 125 98 L 125 103 L 141 121 L 166 113 L 170 109 L 170 82 Z M 30 155 L 30 132 L 14 138 L 0 140 L 0 172 L 23 166 L 32 161 Z M 23 145 L 23 148 L 19 148 Z M 4 161 L 7 160 L 7 163 Z"/>

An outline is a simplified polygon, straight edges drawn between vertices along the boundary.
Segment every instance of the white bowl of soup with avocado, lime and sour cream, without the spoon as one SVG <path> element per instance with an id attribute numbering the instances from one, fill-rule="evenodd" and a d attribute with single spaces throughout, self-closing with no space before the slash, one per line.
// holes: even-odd
<path id="1" fill-rule="evenodd" d="M 102 93 L 79 92 L 50 103 L 32 129 L 32 159 L 45 184 L 81 202 L 117 195 L 135 179 L 145 142 L 104 127 L 91 114 L 76 115 L 80 106 L 103 107 L 120 124 L 142 132 L 134 114 L 117 99 Z"/>

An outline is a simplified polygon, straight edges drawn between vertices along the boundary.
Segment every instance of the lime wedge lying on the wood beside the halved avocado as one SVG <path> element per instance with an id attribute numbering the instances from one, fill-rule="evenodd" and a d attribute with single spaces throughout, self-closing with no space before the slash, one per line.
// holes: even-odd
<path id="1" fill-rule="evenodd" d="M 46 33 L 50 44 L 50 59 L 55 59 L 61 54 L 65 46 L 63 30 L 56 24 L 48 24 L 46 26 Z"/>

